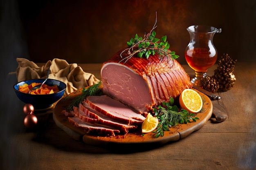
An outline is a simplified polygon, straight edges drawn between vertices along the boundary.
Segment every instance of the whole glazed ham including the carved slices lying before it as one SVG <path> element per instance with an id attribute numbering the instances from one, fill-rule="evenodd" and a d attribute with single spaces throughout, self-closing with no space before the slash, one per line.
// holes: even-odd
<path id="1" fill-rule="evenodd" d="M 189 76 L 171 56 L 148 59 L 119 51 L 101 67 L 101 96 L 88 96 L 63 114 L 77 127 L 97 135 L 126 134 L 141 126 L 153 107 L 177 99 L 191 88 Z M 144 115 L 144 116 L 143 116 Z"/>

